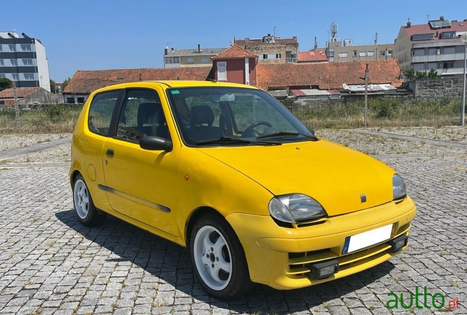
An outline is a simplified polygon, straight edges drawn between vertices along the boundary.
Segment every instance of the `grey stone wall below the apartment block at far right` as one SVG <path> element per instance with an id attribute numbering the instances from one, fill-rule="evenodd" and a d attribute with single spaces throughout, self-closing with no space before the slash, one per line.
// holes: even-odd
<path id="1" fill-rule="evenodd" d="M 421 99 L 441 99 L 443 97 L 462 97 L 462 78 L 439 78 L 434 80 L 413 80 L 406 88 Z"/>

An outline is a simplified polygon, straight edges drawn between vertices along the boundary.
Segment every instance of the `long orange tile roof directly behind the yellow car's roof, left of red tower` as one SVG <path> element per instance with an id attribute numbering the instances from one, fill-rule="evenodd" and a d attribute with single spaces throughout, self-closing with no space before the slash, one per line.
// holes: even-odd
<path id="1" fill-rule="evenodd" d="M 63 91 L 64 94 L 89 94 L 110 85 L 155 80 L 195 80 L 213 78 L 212 67 L 145 68 L 119 70 L 78 70 Z"/>

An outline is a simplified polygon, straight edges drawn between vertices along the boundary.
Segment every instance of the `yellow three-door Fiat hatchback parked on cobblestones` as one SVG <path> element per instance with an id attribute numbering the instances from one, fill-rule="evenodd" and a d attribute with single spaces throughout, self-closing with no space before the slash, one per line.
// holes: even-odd
<path id="1" fill-rule="evenodd" d="M 214 297 L 295 289 L 407 247 L 415 206 L 382 162 L 318 139 L 268 93 L 164 81 L 94 91 L 70 181 L 79 221 L 125 220 L 190 251 Z"/>

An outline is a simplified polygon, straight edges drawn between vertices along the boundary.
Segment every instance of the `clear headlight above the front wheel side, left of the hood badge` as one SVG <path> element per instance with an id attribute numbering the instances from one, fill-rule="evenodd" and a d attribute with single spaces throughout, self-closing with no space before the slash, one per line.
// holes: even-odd
<path id="1" fill-rule="evenodd" d="M 269 213 L 279 221 L 297 223 L 326 215 L 318 201 L 301 193 L 275 196 L 269 201 Z"/>

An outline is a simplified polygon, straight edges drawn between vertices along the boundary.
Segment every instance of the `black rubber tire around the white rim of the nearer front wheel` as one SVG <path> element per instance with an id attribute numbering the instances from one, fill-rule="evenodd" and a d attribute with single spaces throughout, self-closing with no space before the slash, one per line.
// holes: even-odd
<path id="1" fill-rule="evenodd" d="M 198 266 L 195 261 L 196 235 L 203 228 L 209 229 L 210 227 L 215 227 L 222 234 L 225 240 L 227 247 L 225 247 L 224 245 L 222 255 L 225 255 L 225 256 L 227 254 L 230 255 L 229 262 L 231 263 L 230 264 L 231 275 L 230 275 L 229 280 L 226 280 L 226 283 L 228 284 L 223 289 L 220 289 L 220 290 L 211 288 L 209 284 L 203 280 L 200 274 L 200 270 L 198 270 Z M 201 231 L 201 233 L 202 232 L 203 231 Z M 213 231 L 212 233 L 214 234 L 214 237 L 217 234 L 216 231 Z M 220 236 L 218 238 L 220 238 Z M 237 235 L 235 234 L 235 231 L 233 230 L 233 228 L 230 227 L 230 225 L 225 221 L 225 219 L 221 215 L 206 214 L 202 216 L 201 218 L 199 218 L 198 221 L 195 222 L 193 229 L 191 230 L 189 248 L 190 248 L 191 262 L 193 264 L 193 269 L 195 271 L 196 277 L 198 278 L 201 285 L 203 286 L 203 288 L 209 295 L 225 300 L 225 299 L 232 299 L 232 298 L 243 296 L 245 293 L 248 292 L 251 286 L 251 280 L 250 280 L 250 276 L 248 272 L 248 265 L 246 263 L 245 254 L 243 252 L 243 247 L 240 244 L 240 241 Z M 210 247 L 210 249 L 212 250 L 212 247 Z M 201 256 L 204 256 L 205 254 L 206 252 Z M 199 252 L 198 252 L 198 255 L 199 255 Z M 214 255 L 212 255 L 212 257 L 213 257 L 212 262 L 216 263 L 215 260 L 217 259 L 217 257 Z M 202 259 L 205 259 L 205 258 L 203 257 Z M 204 272 L 208 272 L 209 266 L 206 264 L 201 264 L 200 260 L 201 258 L 198 258 L 198 264 L 200 265 L 200 268 L 205 268 Z M 220 272 L 223 272 L 223 270 L 220 270 Z"/>

